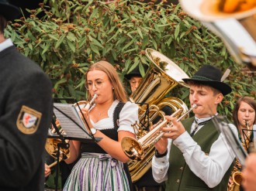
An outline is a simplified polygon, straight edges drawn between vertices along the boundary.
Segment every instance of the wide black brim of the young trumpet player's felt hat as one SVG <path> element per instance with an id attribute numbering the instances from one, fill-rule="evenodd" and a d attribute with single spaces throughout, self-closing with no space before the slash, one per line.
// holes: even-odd
<path id="1" fill-rule="evenodd" d="M 209 80 L 195 80 L 195 79 L 192 79 L 192 78 L 185 78 L 185 79 L 182 79 L 184 80 L 185 84 L 188 84 L 189 82 L 198 82 L 200 84 L 204 84 L 206 86 L 210 86 L 210 87 L 213 87 L 215 88 L 216 90 L 220 90 L 220 92 L 223 94 L 223 95 L 227 95 L 227 94 L 230 94 L 230 92 L 232 91 L 231 87 L 223 82 L 220 82 L 220 81 L 215 81 L 215 80 L 212 80 L 212 81 L 209 81 Z"/>

